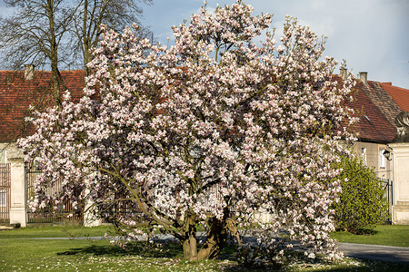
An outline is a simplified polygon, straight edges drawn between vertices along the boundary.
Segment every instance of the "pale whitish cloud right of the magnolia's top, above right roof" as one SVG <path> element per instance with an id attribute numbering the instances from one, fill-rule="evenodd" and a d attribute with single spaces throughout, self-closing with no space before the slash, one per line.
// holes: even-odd
<path id="1" fill-rule="evenodd" d="M 252 3 L 253 1 L 248 1 Z M 328 36 L 325 54 L 346 59 L 354 73 L 409 88 L 409 2 L 404 0 L 254 1 L 256 11 L 274 13 L 278 29 L 284 15 L 298 17 L 316 34 Z"/>

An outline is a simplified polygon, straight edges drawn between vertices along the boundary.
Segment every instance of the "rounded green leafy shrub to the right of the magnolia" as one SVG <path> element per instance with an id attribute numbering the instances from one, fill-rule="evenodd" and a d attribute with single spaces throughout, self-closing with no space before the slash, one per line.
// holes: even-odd
<path id="1" fill-rule="evenodd" d="M 356 157 L 343 158 L 340 164 L 343 192 L 334 204 L 336 228 L 358 234 L 383 223 L 389 204 L 374 170 Z"/>

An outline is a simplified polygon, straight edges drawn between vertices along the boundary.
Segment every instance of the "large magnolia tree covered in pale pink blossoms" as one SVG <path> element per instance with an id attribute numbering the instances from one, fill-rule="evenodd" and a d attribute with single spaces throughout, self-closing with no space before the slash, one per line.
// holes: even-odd
<path id="1" fill-rule="evenodd" d="M 62 110 L 38 113 L 35 134 L 19 141 L 43 170 L 32 208 L 91 199 L 99 216 L 132 226 L 132 212 L 114 212 L 127 203 L 178 238 L 189 259 L 216 257 L 229 233 L 241 243 L 240 229 L 267 248 L 284 231 L 310 257 L 335 257 L 332 164 L 350 138 L 342 105 L 352 81 L 331 80 L 336 63 L 320 59 L 324 44 L 308 27 L 287 17 L 276 46 L 272 16 L 252 11 L 242 1 L 212 14 L 203 7 L 174 27 L 170 48 L 103 26 L 84 98 L 65 94 Z M 58 179 L 61 195 L 47 196 Z"/>

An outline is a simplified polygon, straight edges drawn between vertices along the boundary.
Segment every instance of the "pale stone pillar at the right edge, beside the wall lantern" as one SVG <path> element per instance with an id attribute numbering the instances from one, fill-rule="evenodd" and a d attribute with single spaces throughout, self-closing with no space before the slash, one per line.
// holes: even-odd
<path id="1" fill-rule="evenodd" d="M 409 225 L 409 142 L 389 146 L 394 151 L 392 223 Z"/>

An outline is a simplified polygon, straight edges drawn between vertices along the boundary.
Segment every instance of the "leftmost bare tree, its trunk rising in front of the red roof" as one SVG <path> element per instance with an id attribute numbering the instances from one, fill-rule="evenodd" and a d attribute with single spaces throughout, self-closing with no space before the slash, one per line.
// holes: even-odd
<path id="1" fill-rule="evenodd" d="M 65 85 L 59 72 L 59 49 L 64 47 L 64 36 L 75 11 L 63 0 L 4 0 L 16 6 L 15 15 L 0 21 L 0 53 L 3 66 L 20 70 L 25 63 L 38 67 L 51 66 L 53 96 L 60 105 L 60 91 Z M 63 54 L 65 55 L 65 54 Z"/>

